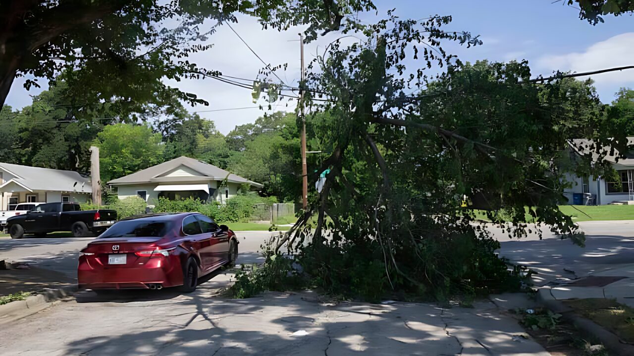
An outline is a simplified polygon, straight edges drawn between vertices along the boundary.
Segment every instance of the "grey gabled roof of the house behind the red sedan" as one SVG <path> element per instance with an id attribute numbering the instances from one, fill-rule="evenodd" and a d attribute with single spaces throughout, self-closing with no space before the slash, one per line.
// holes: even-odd
<path id="1" fill-rule="evenodd" d="M 174 170 L 178 167 L 185 166 L 195 170 L 196 172 L 202 174 L 200 177 L 161 177 L 160 175 L 166 174 L 171 170 Z M 216 167 L 215 165 L 210 165 L 209 163 L 205 163 L 199 160 L 195 160 L 193 158 L 189 158 L 186 156 L 180 156 L 178 158 L 174 158 L 173 160 L 160 163 L 158 165 L 152 166 L 150 168 L 145 168 L 143 170 L 139 170 L 133 174 L 126 175 L 125 177 L 120 177 L 117 179 L 113 179 L 108 182 L 108 184 L 134 184 L 134 183 L 148 183 L 148 182 L 184 182 L 184 181 L 200 181 L 200 180 L 214 180 L 214 181 L 227 181 L 232 183 L 240 183 L 240 184 L 250 184 L 256 188 L 262 188 L 262 184 L 256 183 L 254 181 L 249 181 L 249 179 L 240 177 L 240 175 L 233 174 L 224 170 L 223 168 Z"/>

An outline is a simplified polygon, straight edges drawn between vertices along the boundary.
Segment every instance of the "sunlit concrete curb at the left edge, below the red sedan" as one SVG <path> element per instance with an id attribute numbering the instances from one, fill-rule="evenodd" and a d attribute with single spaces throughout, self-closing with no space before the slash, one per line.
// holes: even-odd
<path id="1" fill-rule="evenodd" d="M 25 300 L 16 300 L 0 305 L 0 324 L 36 314 L 53 305 L 56 301 L 74 295 L 76 291 L 76 284 L 61 288 L 44 288 L 38 295 L 27 296 Z"/>

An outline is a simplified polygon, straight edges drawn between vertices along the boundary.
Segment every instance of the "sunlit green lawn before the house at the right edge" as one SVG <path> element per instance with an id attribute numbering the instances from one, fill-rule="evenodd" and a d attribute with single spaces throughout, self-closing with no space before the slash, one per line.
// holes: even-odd
<path id="1" fill-rule="evenodd" d="M 573 221 L 602 221 L 602 220 L 634 220 L 634 205 L 559 205 L 562 213 L 569 215 Z M 474 210 L 475 218 L 479 220 L 489 221 L 486 212 L 482 210 Z M 504 213 L 501 213 L 503 220 Z M 526 213 L 526 221 L 531 221 L 531 215 Z"/>

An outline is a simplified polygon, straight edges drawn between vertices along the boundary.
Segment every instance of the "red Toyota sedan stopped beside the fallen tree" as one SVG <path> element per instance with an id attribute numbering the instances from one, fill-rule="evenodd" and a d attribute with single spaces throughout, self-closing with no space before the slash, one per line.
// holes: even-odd
<path id="1" fill-rule="evenodd" d="M 200 213 L 120 220 L 81 251 L 79 288 L 196 289 L 198 277 L 235 264 L 238 239 Z"/>

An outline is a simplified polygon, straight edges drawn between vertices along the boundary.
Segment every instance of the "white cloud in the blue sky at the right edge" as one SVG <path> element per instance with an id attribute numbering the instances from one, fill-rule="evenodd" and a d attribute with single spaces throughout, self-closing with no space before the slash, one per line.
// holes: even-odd
<path id="1" fill-rule="evenodd" d="M 536 61 L 544 73 L 555 70 L 589 72 L 612 67 L 632 65 L 634 58 L 634 32 L 616 35 L 592 44 L 583 52 L 541 56 Z M 597 87 L 631 86 L 634 71 L 609 72 L 592 76 Z"/>

